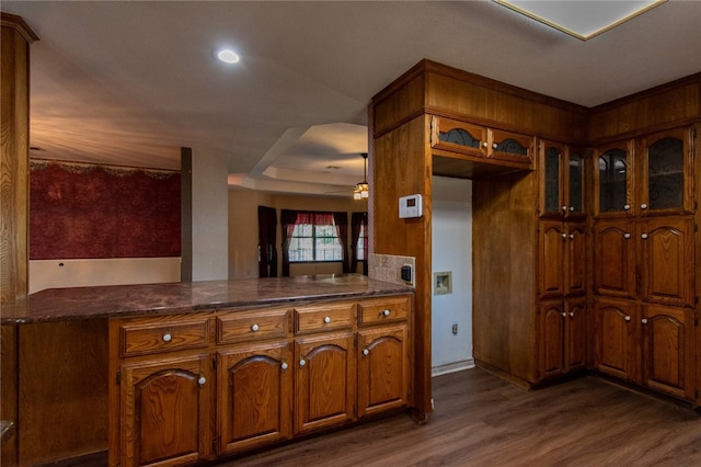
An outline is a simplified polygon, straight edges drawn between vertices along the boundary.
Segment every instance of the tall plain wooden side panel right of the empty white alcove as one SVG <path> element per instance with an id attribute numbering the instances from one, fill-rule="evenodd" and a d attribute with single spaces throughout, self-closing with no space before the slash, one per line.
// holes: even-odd
<path id="1" fill-rule="evenodd" d="M 536 173 L 473 181 L 474 357 L 536 380 Z"/>

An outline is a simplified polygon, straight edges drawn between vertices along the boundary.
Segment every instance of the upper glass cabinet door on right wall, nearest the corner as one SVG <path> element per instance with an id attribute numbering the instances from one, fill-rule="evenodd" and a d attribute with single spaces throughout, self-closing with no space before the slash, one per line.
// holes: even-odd
<path id="1" fill-rule="evenodd" d="M 598 151 L 597 214 L 627 212 L 629 174 L 631 172 L 627 143 L 619 143 Z"/>

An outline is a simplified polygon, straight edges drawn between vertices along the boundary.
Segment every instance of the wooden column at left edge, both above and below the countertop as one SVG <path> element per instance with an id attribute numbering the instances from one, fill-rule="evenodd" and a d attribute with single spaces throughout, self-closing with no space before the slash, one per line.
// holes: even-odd
<path id="1" fill-rule="evenodd" d="M 0 304 L 28 291 L 30 44 L 37 41 L 26 23 L 0 13 Z M 2 438 L 0 464 L 18 464 L 18 332 L 2 327 L 0 418 L 11 423 Z"/>

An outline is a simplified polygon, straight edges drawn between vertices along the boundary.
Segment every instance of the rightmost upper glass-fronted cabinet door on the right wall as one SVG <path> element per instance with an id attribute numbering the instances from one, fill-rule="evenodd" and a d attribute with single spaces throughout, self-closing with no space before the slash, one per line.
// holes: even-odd
<path id="1" fill-rule="evenodd" d="M 641 140 L 641 215 L 693 210 L 690 137 L 689 128 L 677 128 Z"/>

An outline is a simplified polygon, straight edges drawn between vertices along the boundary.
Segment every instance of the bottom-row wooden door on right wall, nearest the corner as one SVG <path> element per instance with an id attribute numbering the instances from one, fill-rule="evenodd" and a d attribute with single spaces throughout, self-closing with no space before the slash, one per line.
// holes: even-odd
<path id="1" fill-rule="evenodd" d="M 635 304 L 598 299 L 595 304 L 595 365 L 601 373 L 632 380 L 635 376 Z"/>

